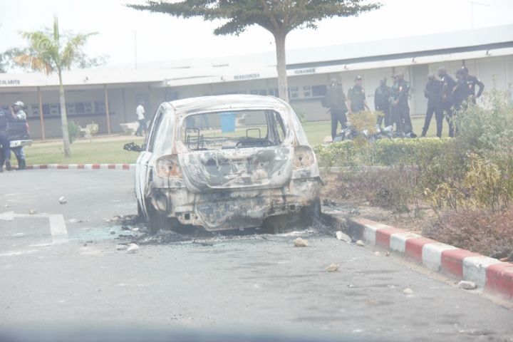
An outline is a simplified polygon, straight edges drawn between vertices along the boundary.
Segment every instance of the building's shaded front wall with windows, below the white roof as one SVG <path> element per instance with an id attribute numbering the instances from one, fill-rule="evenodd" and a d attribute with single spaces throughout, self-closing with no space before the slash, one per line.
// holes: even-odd
<path id="1" fill-rule="evenodd" d="M 461 68 L 464 61 L 444 63 L 415 64 L 413 66 L 396 66 L 394 68 L 373 68 L 367 70 L 348 70 L 340 73 L 307 74 L 289 77 L 289 98 L 291 106 L 296 112 L 304 115 L 306 120 L 329 120 L 327 109 L 321 105 L 323 90 L 331 79 L 342 81 L 343 89 L 347 93 L 353 85 L 355 76 L 363 77 L 363 88 L 366 90 L 368 105 L 374 108 L 374 90 L 382 77 L 387 78 L 388 86 L 392 85 L 390 76 L 393 73 L 405 73 L 405 79 L 410 82 L 410 110 L 412 115 L 424 115 L 427 100 L 424 97 L 424 86 L 427 74 L 435 72 L 440 66 L 445 66 L 451 76 Z M 479 77 L 487 90 L 495 82 L 498 88 L 509 90 L 513 99 L 513 56 L 489 56 L 465 61 L 472 75 Z M 0 89 L 1 90 L 1 89 Z M 109 85 L 108 98 L 110 108 L 110 126 L 113 133 L 120 133 L 120 123 L 137 120 L 135 108 L 138 101 L 145 103 L 148 120 L 157 110 L 160 103 L 177 98 L 189 98 L 202 95 L 221 95 L 232 93 L 277 95 L 276 79 L 254 79 L 237 82 L 222 82 L 213 84 L 200 84 L 195 86 L 165 87 L 164 82 L 159 83 L 133 83 L 123 85 Z M 61 118 L 58 115 L 58 90 L 42 88 L 44 105 L 52 105 L 52 113 L 46 113 L 46 137 L 53 138 L 61 135 Z M 105 94 L 103 85 L 88 86 L 88 88 L 67 87 L 66 102 L 68 105 L 77 104 L 83 108 L 89 103 L 90 113 L 76 115 L 68 113 L 68 120 L 74 120 L 81 126 L 88 123 L 98 123 L 100 133 L 107 133 L 105 110 L 98 103 L 104 103 Z M 38 93 L 36 88 L 23 88 L 16 91 L 3 90 L 0 92 L 0 106 L 6 106 L 21 100 L 27 105 L 27 114 L 31 135 L 33 138 L 41 137 L 41 128 L 38 115 Z M 48 108 L 47 108 L 48 109 Z"/>

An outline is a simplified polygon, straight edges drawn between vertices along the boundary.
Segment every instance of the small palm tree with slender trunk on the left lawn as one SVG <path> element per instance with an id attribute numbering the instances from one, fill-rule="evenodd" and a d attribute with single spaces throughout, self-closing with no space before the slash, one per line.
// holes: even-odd
<path id="1" fill-rule="evenodd" d="M 62 43 L 58 19 L 57 16 L 53 16 L 53 30 L 21 32 L 20 34 L 28 40 L 28 53 L 14 57 L 14 61 L 33 71 L 42 71 L 47 75 L 57 73 L 58 75 L 64 157 L 71 157 L 62 73 L 64 70 L 71 69 L 73 63 L 83 61 L 82 48 L 88 38 L 96 33 L 66 34 L 66 42 Z"/>

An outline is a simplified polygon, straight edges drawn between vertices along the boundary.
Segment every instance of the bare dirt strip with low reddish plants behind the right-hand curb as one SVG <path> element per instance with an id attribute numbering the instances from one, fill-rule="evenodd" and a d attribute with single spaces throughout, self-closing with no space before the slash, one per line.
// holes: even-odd
<path id="1" fill-rule="evenodd" d="M 354 180 L 354 182 L 353 182 Z M 405 212 L 394 211 L 397 206 L 386 209 L 371 204 L 369 186 L 341 173 L 323 175 L 326 186 L 321 191 L 321 201 L 330 209 L 336 209 L 346 217 L 363 217 L 392 227 L 422 234 L 440 242 L 472 252 L 513 261 L 513 209 L 492 213 L 485 210 L 459 210 L 446 212 L 438 217 L 426 203 L 419 201 L 418 217 L 415 208 L 408 204 Z M 371 180 L 372 182 L 372 180 Z M 386 203 L 385 203 L 386 204 Z"/>

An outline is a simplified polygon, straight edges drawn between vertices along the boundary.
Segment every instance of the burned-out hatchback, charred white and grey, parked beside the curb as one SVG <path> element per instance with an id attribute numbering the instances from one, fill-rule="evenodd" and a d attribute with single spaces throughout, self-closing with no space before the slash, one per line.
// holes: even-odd
<path id="1" fill-rule="evenodd" d="M 294 110 L 259 95 L 162 103 L 135 168 L 138 211 L 151 232 L 287 222 L 319 209 L 314 151 Z"/>

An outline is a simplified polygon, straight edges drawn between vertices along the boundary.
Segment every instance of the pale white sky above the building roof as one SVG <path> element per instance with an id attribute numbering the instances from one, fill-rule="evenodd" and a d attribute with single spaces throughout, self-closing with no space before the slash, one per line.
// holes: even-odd
<path id="1" fill-rule="evenodd" d="M 0 0 L 0 51 L 23 46 L 19 31 L 51 26 L 61 31 L 98 32 L 86 53 L 106 54 L 108 64 L 233 56 L 274 51 L 270 33 L 254 26 L 237 36 L 214 36 L 216 23 L 135 11 L 123 4 L 142 0 Z M 383 0 L 378 11 L 357 18 L 322 21 L 316 31 L 297 30 L 287 50 L 373 41 L 400 36 L 513 24 L 512 0 Z M 473 14 L 473 15 L 472 15 Z M 135 44 L 135 36 L 137 44 Z"/>

